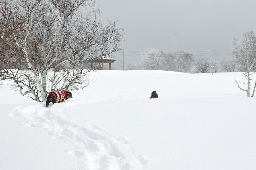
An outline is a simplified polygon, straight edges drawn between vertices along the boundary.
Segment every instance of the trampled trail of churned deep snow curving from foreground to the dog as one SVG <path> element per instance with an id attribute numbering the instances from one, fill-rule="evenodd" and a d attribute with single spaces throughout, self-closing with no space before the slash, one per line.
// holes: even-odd
<path id="1" fill-rule="evenodd" d="M 97 100 L 66 101 L 48 108 L 42 102 L 16 107 L 9 115 L 18 118 L 25 126 L 38 128 L 47 136 L 67 143 L 69 147 L 65 152 L 76 159 L 73 169 L 145 169 L 147 159 L 143 155 L 135 156 L 127 139 L 97 126 L 82 124 L 65 112 L 73 105 L 91 101 Z"/>

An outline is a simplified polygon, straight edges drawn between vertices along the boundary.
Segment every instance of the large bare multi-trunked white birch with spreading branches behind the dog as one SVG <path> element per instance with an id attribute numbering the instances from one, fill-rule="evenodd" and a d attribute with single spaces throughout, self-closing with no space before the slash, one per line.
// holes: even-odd
<path id="1" fill-rule="evenodd" d="M 90 83 L 87 61 L 119 50 L 122 29 L 115 23 L 101 23 L 99 10 L 80 14 L 79 8 L 93 7 L 94 1 L 1 2 L 0 25 L 10 31 L 0 41 L 2 75 L 13 80 L 20 94 L 45 101 L 52 90 L 82 89 Z M 13 29 L 16 23 L 18 28 Z"/>

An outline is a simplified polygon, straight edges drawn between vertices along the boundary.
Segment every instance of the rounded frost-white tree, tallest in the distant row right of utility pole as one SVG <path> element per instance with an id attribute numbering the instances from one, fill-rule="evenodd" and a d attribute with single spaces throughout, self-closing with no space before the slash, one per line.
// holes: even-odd
<path id="1" fill-rule="evenodd" d="M 146 49 L 143 52 L 142 64 L 145 69 L 164 70 L 166 68 L 166 54 L 161 50 Z"/>

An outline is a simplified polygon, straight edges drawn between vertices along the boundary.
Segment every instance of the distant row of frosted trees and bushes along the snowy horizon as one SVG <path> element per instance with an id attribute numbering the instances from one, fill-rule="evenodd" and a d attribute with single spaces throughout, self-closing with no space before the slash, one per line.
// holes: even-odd
<path id="1" fill-rule="evenodd" d="M 162 50 L 146 49 L 140 63 L 131 63 L 127 70 L 152 69 L 183 73 L 234 72 L 234 61 L 212 61 L 207 58 L 194 59 L 193 54 L 179 50 L 163 52 Z"/>

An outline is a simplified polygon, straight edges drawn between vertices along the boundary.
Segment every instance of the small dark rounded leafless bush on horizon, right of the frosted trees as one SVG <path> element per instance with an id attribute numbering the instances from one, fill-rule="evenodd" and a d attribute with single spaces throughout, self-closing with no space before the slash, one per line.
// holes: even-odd
<path id="1" fill-rule="evenodd" d="M 195 61 L 195 73 L 208 73 L 211 69 L 212 62 L 207 58 L 200 58 Z"/>

